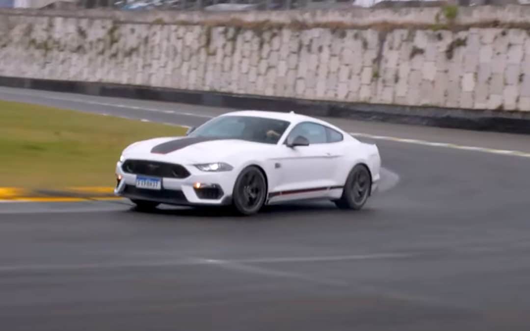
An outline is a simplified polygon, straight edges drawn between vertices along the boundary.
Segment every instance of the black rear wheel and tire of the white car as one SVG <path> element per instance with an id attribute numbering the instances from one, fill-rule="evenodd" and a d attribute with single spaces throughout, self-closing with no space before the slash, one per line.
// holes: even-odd
<path id="1" fill-rule="evenodd" d="M 346 185 L 339 200 L 335 204 L 340 209 L 359 210 L 363 208 L 372 190 L 372 179 L 365 165 L 358 164 L 351 169 Z"/>

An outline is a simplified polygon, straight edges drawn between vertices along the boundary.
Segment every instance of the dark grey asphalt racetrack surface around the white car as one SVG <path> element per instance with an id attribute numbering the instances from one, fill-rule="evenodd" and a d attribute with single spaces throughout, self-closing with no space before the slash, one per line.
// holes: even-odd
<path id="1" fill-rule="evenodd" d="M 0 99 L 188 126 L 226 111 L 13 89 Z M 332 121 L 530 149 L 526 136 Z M 360 212 L 0 204 L 0 329 L 530 329 L 530 158 L 376 142 L 386 187 Z"/>

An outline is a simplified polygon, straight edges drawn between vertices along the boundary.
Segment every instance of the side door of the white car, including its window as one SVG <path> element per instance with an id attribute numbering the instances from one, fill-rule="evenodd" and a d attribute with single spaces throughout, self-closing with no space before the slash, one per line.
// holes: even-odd
<path id="1" fill-rule="evenodd" d="M 302 136 L 308 146 L 288 147 L 286 142 Z M 336 153 L 328 146 L 326 127 L 314 122 L 297 124 L 278 146 L 275 158 L 277 181 L 271 187 L 271 201 L 322 196 L 334 184 Z"/>

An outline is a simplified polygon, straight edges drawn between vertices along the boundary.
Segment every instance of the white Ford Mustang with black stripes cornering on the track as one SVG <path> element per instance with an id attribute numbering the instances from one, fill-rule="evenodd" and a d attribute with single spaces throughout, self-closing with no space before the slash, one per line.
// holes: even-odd
<path id="1" fill-rule="evenodd" d="M 375 145 L 304 115 L 237 111 L 185 137 L 138 141 L 116 165 L 114 193 L 139 209 L 158 204 L 232 205 L 240 214 L 291 200 L 360 209 L 377 187 Z"/>

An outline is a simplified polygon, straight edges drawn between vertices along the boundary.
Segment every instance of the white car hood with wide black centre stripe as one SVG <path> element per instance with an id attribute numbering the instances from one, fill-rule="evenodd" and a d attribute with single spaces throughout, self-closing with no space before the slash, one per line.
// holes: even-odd
<path id="1" fill-rule="evenodd" d="M 226 162 L 231 156 L 254 154 L 271 146 L 237 139 L 164 137 L 136 142 L 123 151 L 123 156 L 180 164 Z"/>

